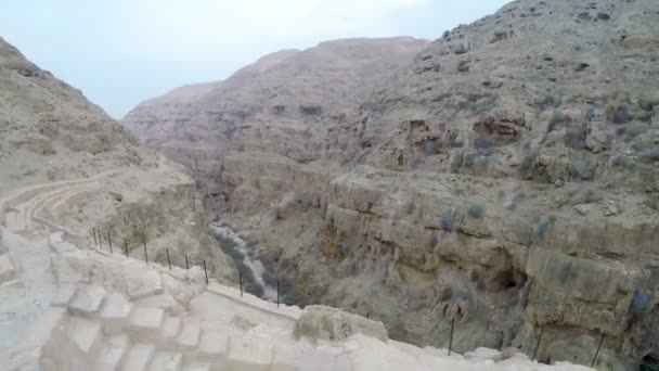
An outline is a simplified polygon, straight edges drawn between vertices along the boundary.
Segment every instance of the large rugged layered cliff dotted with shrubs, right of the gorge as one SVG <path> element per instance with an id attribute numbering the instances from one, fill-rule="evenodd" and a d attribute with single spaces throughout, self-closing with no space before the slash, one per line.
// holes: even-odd
<path id="1" fill-rule="evenodd" d="M 393 337 L 445 346 L 454 319 L 461 350 L 581 363 L 604 338 L 599 369 L 632 369 L 659 351 L 657 21 L 651 0 L 511 2 L 371 80 L 320 156 L 222 144 L 215 204 L 307 300 Z"/>

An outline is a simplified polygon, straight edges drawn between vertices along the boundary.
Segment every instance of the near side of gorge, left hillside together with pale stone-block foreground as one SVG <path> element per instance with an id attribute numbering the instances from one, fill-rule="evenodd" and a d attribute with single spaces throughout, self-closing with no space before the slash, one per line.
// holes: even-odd
<path id="1" fill-rule="evenodd" d="M 590 370 L 512 350 L 448 356 L 389 341 L 382 322 L 222 285 L 199 265 L 234 273 L 205 244 L 190 177 L 1 39 L 0 79 L 3 370 Z M 103 233 L 90 238 L 94 227 Z M 115 239 L 113 250 L 112 235 L 127 244 Z M 192 267 L 154 263 L 163 247 L 179 263 L 190 254 Z"/>

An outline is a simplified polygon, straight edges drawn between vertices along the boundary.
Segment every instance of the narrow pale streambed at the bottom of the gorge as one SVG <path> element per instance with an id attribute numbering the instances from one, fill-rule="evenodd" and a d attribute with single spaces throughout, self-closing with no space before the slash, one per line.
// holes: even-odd
<path id="1" fill-rule="evenodd" d="M 266 300 L 276 300 L 276 272 L 272 264 L 262 261 L 260 247 L 246 242 L 221 221 L 209 226 L 222 251 L 241 270 L 245 291 Z"/>

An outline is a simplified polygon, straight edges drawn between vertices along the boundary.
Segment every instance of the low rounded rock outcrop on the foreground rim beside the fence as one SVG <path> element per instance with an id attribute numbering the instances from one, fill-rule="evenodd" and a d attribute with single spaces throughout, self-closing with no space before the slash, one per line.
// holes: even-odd
<path id="1" fill-rule="evenodd" d="M 295 323 L 295 335 L 298 338 L 308 337 L 314 342 L 344 341 L 356 334 L 379 338 L 383 342 L 389 338 L 382 322 L 322 305 L 307 307 Z"/>

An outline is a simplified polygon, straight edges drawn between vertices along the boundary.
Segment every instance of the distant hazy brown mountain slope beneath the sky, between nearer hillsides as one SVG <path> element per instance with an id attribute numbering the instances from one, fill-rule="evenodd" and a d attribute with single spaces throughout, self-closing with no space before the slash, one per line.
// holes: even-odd
<path id="1" fill-rule="evenodd" d="M 172 92 L 140 104 L 121 121 L 151 148 L 204 166 L 221 153 L 257 151 L 321 158 L 327 130 L 346 121 L 358 97 L 427 46 L 413 38 L 348 39 L 285 50 L 242 68 L 194 102 Z M 196 88 L 195 88 L 196 89 Z M 171 102 L 184 104 L 170 110 Z"/>

